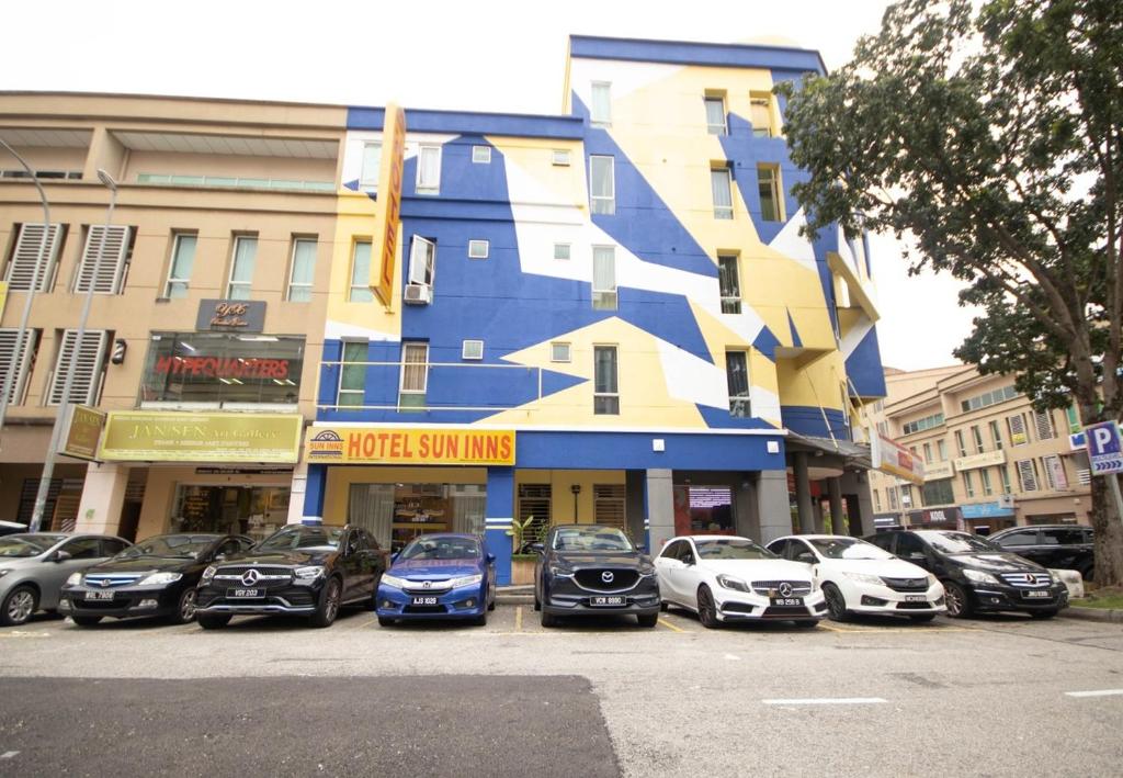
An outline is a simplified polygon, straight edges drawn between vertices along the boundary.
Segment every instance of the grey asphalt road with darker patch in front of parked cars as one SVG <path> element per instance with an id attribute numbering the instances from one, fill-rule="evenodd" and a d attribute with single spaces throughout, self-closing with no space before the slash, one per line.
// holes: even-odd
<path id="1" fill-rule="evenodd" d="M 1119 775 L 1123 626 L 0 630 L 0 775 Z"/>

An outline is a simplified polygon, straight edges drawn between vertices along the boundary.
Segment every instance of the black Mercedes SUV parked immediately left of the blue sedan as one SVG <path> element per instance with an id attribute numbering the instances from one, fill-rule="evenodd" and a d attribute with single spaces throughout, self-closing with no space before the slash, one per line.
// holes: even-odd
<path id="1" fill-rule="evenodd" d="M 365 530 L 293 524 L 207 568 L 195 617 L 204 630 L 239 614 L 293 614 L 330 626 L 344 605 L 374 608 L 385 570 L 385 553 Z"/>

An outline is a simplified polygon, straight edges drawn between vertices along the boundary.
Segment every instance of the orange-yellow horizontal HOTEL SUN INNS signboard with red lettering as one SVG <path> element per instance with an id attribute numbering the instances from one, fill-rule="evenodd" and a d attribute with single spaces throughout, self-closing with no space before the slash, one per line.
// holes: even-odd
<path id="1" fill-rule="evenodd" d="M 310 427 L 309 462 L 514 464 L 513 429 Z"/>

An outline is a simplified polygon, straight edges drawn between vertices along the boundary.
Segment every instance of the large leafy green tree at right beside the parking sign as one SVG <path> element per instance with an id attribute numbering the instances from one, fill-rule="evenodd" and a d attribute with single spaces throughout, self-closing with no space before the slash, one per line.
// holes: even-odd
<path id="1" fill-rule="evenodd" d="M 985 315 L 956 356 L 1013 373 L 1039 409 L 1123 416 L 1123 2 L 903 0 L 853 60 L 782 83 L 809 234 L 910 235 Z M 1093 477 L 1096 577 L 1123 525 Z"/>

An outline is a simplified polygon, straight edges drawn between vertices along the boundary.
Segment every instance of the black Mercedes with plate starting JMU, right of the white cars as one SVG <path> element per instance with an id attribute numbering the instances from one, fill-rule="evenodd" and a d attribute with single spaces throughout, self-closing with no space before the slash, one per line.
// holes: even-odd
<path id="1" fill-rule="evenodd" d="M 1068 589 L 1059 576 L 979 535 L 905 530 L 877 533 L 866 540 L 940 579 L 949 616 L 1016 610 L 1050 618 L 1068 607 Z"/>

